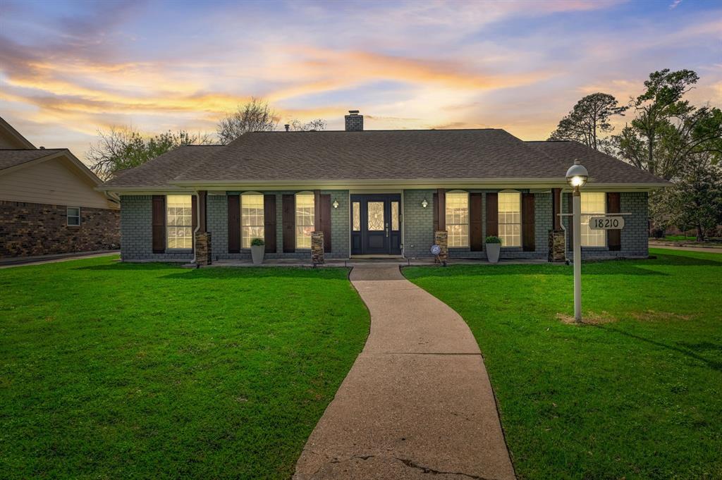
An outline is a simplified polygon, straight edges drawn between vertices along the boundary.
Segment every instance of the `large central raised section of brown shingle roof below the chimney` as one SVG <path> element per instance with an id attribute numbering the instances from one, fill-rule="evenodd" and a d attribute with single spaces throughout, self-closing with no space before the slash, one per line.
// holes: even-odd
<path id="1" fill-rule="evenodd" d="M 508 132 L 254 132 L 176 180 L 563 178 L 568 165 Z"/>

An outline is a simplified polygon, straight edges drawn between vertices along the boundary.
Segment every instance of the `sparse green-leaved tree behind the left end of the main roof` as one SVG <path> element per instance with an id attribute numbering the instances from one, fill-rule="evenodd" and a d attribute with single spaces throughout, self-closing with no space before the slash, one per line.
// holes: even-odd
<path id="1" fill-rule="evenodd" d="M 181 145 L 213 143 L 206 134 L 192 135 L 185 130 L 144 137 L 135 128 L 112 127 L 97 134 L 100 138 L 85 152 L 85 158 L 91 163 L 90 170 L 104 180 Z"/>

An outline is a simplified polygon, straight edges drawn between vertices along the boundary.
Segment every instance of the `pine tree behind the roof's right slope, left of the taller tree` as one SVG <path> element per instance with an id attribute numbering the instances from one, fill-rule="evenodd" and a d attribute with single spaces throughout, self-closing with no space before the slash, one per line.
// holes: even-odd
<path id="1" fill-rule="evenodd" d="M 599 150 L 604 143 L 600 134 L 611 132 L 614 127 L 609 118 L 624 115 L 627 107 L 620 107 L 617 99 L 606 93 L 593 93 L 579 100 L 572 110 L 559 122 L 549 140 L 575 140 Z"/>

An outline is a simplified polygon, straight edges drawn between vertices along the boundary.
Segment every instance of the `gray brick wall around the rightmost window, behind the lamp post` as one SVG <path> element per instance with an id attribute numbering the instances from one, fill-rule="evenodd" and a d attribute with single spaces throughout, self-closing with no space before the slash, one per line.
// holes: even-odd
<path id="1" fill-rule="evenodd" d="M 569 196 L 562 195 L 562 212 L 567 212 Z M 622 228 L 622 250 L 609 251 L 606 247 L 582 247 L 582 258 L 645 258 L 649 256 L 648 199 L 647 192 L 622 192 L 619 194 L 620 210 L 625 215 L 625 227 Z M 562 217 L 565 227 L 571 217 Z M 567 251 L 573 245 L 567 242 Z M 570 256 L 571 258 L 571 256 Z"/>

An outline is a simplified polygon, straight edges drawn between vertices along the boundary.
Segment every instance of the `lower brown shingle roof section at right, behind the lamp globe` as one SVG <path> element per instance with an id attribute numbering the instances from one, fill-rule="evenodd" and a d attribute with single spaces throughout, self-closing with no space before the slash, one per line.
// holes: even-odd
<path id="1" fill-rule="evenodd" d="M 622 162 L 611 155 L 598 152 L 578 141 L 528 141 L 527 144 L 572 165 L 580 160 L 589 171 L 590 185 L 593 183 L 668 183 L 646 170 Z"/>

